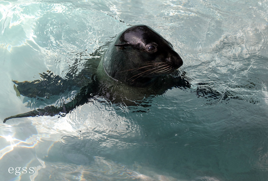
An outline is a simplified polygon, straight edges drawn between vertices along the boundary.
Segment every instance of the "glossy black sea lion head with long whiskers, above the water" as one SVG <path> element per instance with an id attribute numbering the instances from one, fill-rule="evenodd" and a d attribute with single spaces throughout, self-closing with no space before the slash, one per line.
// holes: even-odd
<path id="1" fill-rule="evenodd" d="M 146 25 L 131 26 L 118 34 L 103 59 L 110 77 L 139 87 L 181 65 L 183 61 L 170 42 Z"/>

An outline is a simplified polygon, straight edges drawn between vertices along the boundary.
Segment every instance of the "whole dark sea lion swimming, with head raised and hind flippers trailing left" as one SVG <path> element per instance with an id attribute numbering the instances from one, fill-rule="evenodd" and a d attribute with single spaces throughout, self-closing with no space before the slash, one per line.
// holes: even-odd
<path id="1" fill-rule="evenodd" d="M 142 100 L 146 95 L 160 95 L 173 87 L 189 88 L 190 83 L 187 80 L 171 75 L 181 65 L 181 57 L 160 34 L 146 25 L 131 26 L 118 34 L 109 45 L 96 75 L 92 76 L 90 83 L 83 86 L 72 101 L 61 107 L 46 106 L 10 116 L 3 122 L 19 117 L 65 116 L 94 96 L 133 105 L 133 100 Z M 31 82 L 15 83 L 18 84 L 21 95 L 25 95 L 24 91 L 29 86 L 32 88 L 37 85 Z M 61 86 L 62 88 L 64 87 Z"/>

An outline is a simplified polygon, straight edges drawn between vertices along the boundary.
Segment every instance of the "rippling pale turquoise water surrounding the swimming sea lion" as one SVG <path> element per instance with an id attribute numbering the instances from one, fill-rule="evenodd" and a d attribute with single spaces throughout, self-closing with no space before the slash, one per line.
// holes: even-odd
<path id="1" fill-rule="evenodd" d="M 1 180 L 268 180 L 268 1 L 0 1 L 0 11 L 1 120 L 49 103 L 17 97 L 12 80 L 79 72 L 77 53 L 104 52 L 129 25 L 171 42 L 192 84 L 149 98 L 149 112 L 94 100 L 0 124 Z"/>

